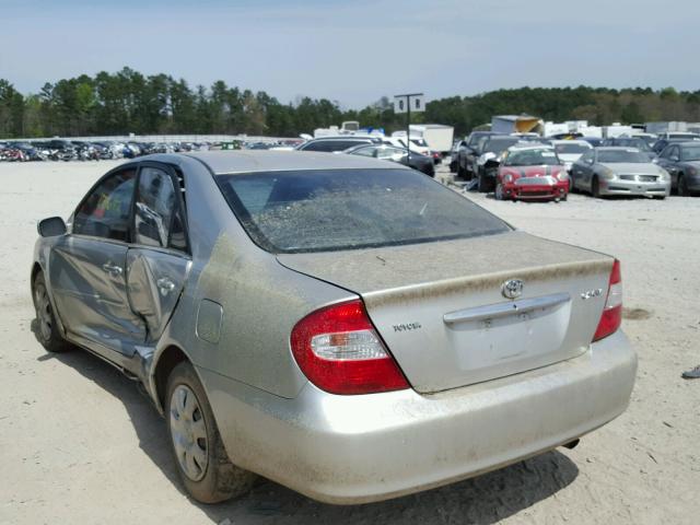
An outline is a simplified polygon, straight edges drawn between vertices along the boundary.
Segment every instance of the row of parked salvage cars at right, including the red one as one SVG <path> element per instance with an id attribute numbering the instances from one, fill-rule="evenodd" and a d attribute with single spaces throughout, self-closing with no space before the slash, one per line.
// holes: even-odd
<path id="1" fill-rule="evenodd" d="M 656 155 L 638 144 L 640 138 L 556 140 L 476 131 L 455 144 L 450 168 L 497 199 L 560 201 L 576 190 L 594 197 L 691 196 L 700 192 L 700 141 L 690 139 L 660 139 Z"/>

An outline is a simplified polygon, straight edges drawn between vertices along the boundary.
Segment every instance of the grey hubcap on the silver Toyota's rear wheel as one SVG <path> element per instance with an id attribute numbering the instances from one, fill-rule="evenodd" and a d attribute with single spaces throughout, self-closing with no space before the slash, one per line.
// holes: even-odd
<path id="1" fill-rule="evenodd" d="M 171 438 L 179 466 L 192 481 L 207 471 L 207 428 L 195 393 L 177 385 L 171 397 Z"/>

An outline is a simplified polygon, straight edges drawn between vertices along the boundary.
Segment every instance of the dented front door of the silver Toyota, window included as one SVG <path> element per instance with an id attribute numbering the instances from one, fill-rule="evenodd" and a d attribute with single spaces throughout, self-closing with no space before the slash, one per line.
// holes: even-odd
<path id="1" fill-rule="evenodd" d="M 126 357 L 145 336 L 126 293 L 136 182 L 133 165 L 104 177 L 75 210 L 71 234 L 49 255 L 54 300 L 71 338 Z"/>

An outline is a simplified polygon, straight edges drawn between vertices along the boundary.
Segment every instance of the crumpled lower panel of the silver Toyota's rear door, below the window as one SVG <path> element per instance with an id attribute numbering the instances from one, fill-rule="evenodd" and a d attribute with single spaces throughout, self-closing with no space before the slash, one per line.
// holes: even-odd
<path id="1" fill-rule="evenodd" d="M 190 266 L 187 256 L 171 252 L 130 248 L 127 253 L 129 304 L 147 325 L 147 343 L 156 341 L 163 334 Z"/>

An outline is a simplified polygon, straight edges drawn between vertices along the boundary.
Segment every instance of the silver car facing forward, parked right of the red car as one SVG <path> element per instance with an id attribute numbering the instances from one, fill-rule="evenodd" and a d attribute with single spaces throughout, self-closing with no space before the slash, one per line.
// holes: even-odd
<path id="1" fill-rule="evenodd" d="M 594 197 L 644 196 L 665 199 L 670 195 L 670 175 L 635 148 L 604 147 L 587 151 L 569 172 L 572 190 Z"/>

